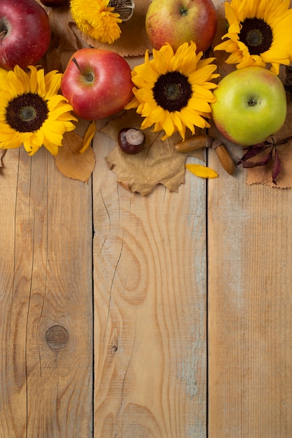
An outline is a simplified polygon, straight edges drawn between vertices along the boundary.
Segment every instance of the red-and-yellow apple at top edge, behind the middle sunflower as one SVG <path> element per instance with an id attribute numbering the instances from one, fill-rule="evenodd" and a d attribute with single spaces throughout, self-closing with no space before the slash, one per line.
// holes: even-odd
<path id="1" fill-rule="evenodd" d="M 173 50 L 194 41 L 197 52 L 205 52 L 217 30 L 212 0 L 152 0 L 145 17 L 147 37 L 154 49 L 166 42 Z"/>

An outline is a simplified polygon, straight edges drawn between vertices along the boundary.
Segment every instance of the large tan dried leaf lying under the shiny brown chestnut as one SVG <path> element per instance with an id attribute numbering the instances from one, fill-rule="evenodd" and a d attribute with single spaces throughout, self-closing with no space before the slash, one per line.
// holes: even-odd
<path id="1" fill-rule="evenodd" d="M 124 127 L 138 128 L 141 117 L 136 111 L 126 111 L 120 118 L 111 120 L 101 132 L 117 142 L 119 129 Z M 151 128 L 144 129 L 145 148 L 137 155 L 128 155 L 116 146 L 105 157 L 108 167 L 117 174 L 117 183 L 131 192 L 148 195 L 157 184 L 163 184 L 170 192 L 177 192 L 184 183 L 184 162 L 187 156 L 203 160 L 203 150 L 194 153 L 180 153 L 175 150 L 175 144 L 181 141 L 180 134 L 173 134 L 170 139 L 161 140 L 164 132 L 153 132 Z"/>

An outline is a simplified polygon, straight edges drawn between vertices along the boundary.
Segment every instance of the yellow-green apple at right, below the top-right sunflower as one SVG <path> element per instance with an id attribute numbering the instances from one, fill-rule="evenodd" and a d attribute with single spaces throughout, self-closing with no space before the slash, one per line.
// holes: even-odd
<path id="1" fill-rule="evenodd" d="M 212 119 L 221 134 L 241 146 L 253 146 L 276 134 L 287 113 L 282 81 L 268 69 L 250 66 L 228 73 L 214 90 Z"/>

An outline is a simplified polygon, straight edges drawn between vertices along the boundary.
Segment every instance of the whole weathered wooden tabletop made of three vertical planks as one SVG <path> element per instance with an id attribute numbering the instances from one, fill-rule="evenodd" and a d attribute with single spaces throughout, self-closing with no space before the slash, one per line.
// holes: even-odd
<path id="1" fill-rule="evenodd" d="M 93 147 L 87 184 L 3 158 L 0 438 L 291 437 L 292 191 L 210 151 L 142 197 Z"/>

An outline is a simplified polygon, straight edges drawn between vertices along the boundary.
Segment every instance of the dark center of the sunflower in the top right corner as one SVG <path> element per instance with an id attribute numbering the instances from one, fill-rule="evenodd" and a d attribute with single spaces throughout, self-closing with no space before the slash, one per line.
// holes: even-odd
<path id="1" fill-rule="evenodd" d="M 261 18 L 246 18 L 240 23 L 240 41 L 249 49 L 250 55 L 261 55 L 272 45 L 272 29 Z"/>

